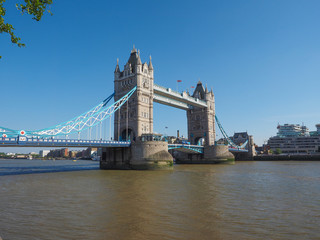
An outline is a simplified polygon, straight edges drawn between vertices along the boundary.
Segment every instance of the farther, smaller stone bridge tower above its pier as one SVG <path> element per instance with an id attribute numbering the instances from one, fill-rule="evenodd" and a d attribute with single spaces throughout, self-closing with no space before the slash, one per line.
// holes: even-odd
<path id="1" fill-rule="evenodd" d="M 215 141 L 215 101 L 214 94 L 204 88 L 199 81 L 192 97 L 207 103 L 206 108 L 189 109 L 187 111 L 188 119 L 188 137 L 191 144 L 199 144 L 204 141 L 205 146 L 214 145 Z"/>

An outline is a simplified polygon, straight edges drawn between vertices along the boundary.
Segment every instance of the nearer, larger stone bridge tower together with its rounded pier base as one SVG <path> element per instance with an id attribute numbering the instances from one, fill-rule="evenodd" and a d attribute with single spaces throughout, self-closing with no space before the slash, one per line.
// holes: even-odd
<path id="1" fill-rule="evenodd" d="M 134 47 L 123 71 L 119 61 L 114 71 L 114 100 L 117 101 L 132 88 L 137 90 L 114 114 L 114 139 L 131 140 L 128 148 L 102 149 L 101 169 L 171 169 L 173 158 L 168 143 L 140 141 L 142 134 L 153 132 L 153 66 L 141 62 Z"/>

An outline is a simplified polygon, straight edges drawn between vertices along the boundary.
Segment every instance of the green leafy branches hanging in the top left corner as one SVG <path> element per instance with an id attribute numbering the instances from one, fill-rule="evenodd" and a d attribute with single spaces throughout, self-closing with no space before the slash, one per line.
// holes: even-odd
<path id="1" fill-rule="evenodd" d="M 6 0 L 0 0 L 0 33 L 7 33 L 11 37 L 11 42 L 17 44 L 18 47 L 24 47 L 25 44 L 14 33 L 14 27 L 4 21 L 6 9 L 3 6 Z M 34 20 L 40 21 L 46 9 L 52 4 L 53 0 L 24 0 L 24 3 L 16 4 L 17 9 L 22 14 L 32 15 Z M 47 10 L 51 15 L 51 11 Z M 1 58 L 1 56 L 0 56 Z"/>

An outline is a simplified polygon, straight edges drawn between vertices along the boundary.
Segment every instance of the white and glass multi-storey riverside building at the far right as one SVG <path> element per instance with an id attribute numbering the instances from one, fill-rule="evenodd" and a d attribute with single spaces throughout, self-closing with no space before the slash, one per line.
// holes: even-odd
<path id="1" fill-rule="evenodd" d="M 320 152 L 320 124 L 317 131 L 310 132 L 306 126 L 299 124 L 278 125 L 277 136 L 268 140 L 272 151 L 281 149 L 282 153 L 316 153 Z"/>

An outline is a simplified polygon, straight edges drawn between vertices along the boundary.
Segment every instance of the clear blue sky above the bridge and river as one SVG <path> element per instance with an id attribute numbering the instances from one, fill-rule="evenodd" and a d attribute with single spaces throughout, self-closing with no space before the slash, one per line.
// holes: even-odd
<path id="1" fill-rule="evenodd" d="M 0 35 L 0 126 L 66 121 L 113 92 L 133 44 L 152 55 L 155 83 L 213 89 L 225 130 L 261 145 L 278 123 L 320 123 L 320 1 L 64 0 L 35 22 L 8 0 L 6 21 L 27 45 Z M 187 135 L 186 113 L 155 104 L 154 131 Z M 221 133 L 217 130 L 218 138 Z"/>

